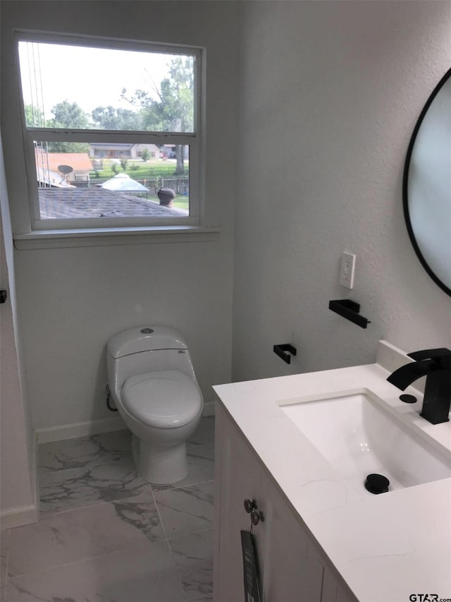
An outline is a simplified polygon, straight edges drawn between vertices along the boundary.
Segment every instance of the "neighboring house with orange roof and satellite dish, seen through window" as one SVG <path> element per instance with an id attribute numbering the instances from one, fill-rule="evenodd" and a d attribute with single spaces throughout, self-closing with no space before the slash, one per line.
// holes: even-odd
<path id="1" fill-rule="evenodd" d="M 68 183 L 89 182 L 92 163 L 87 152 L 46 152 L 42 148 L 36 148 L 35 155 L 39 181 L 48 184 L 48 174 L 51 174 L 51 185 L 61 184 L 63 180 Z M 65 174 L 64 171 L 58 169 L 62 165 L 72 167 L 72 171 Z"/>

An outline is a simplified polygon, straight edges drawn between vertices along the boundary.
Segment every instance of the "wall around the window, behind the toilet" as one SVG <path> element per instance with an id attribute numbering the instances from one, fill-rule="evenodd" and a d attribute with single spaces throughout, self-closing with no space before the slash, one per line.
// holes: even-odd
<path id="1" fill-rule="evenodd" d="M 22 1 L 2 3 L 6 82 L 11 30 L 29 28 L 206 47 L 206 203 L 210 242 L 16 251 L 18 302 L 35 428 L 110 417 L 105 345 L 136 325 L 180 328 L 206 402 L 230 380 L 233 204 L 237 98 L 237 7 L 233 2 Z M 6 54 L 5 54 L 6 52 Z M 110 76 L 113 66 L 99 73 Z M 8 79 L 9 78 L 9 79 Z M 5 80 L 4 80 L 5 82 Z M 80 82 L 80 85 L 82 83 Z M 7 87 L 6 87 L 7 88 Z M 4 146 L 11 207 L 20 140 L 8 121 Z"/>

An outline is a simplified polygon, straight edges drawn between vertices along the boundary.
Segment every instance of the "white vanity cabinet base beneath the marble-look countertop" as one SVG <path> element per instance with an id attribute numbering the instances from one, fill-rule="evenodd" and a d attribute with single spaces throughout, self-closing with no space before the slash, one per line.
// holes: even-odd
<path id="1" fill-rule="evenodd" d="M 264 514 L 253 527 L 262 601 L 354 601 L 219 403 L 215 457 L 215 602 L 251 602 L 245 601 L 240 538 L 240 531 L 251 525 L 246 498 L 255 500 Z"/>

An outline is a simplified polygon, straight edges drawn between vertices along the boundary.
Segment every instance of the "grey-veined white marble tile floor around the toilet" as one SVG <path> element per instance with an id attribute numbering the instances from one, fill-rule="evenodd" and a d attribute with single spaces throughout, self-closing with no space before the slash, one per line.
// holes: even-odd
<path id="1" fill-rule="evenodd" d="M 1 531 L 0 602 L 213 600 L 214 417 L 151 486 L 128 431 L 39 446 L 39 523 Z"/>

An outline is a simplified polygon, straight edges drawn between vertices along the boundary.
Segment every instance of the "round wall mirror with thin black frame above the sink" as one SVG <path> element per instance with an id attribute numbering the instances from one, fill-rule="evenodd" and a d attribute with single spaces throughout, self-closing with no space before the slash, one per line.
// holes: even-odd
<path id="1" fill-rule="evenodd" d="M 451 296 L 451 69 L 416 123 L 404 165 L 402 197 L 416 255 Z"/>

